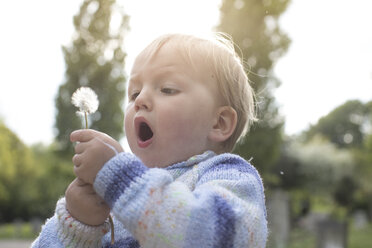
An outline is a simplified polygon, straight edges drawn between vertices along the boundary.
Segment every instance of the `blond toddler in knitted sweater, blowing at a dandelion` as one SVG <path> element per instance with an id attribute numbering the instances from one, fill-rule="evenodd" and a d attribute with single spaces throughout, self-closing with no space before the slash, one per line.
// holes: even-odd
<path id="1" fill-rule="evenodd" d="M 98 131 L 73 132 L 77 179 L 33 247 L 265 247 L 261 178 L 229 153 L 255 120 L 253 98 L 229 39 L 157 38 L 130 75 L 133 154 Z"/>

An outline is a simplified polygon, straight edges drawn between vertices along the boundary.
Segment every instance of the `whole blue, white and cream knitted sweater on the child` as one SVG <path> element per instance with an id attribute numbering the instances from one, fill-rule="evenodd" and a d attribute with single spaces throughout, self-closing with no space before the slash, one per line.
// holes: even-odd
<path id="1" fill-rule="evenodd" d="M 120 153 L 99 171 L 94 188 L 112 211 L 113 246 L 107 222 L 80 223 L 62 198 L 32 247 L 265 247 L 262 181 L 237 155 L 208 151 L 150 169 Z"/>

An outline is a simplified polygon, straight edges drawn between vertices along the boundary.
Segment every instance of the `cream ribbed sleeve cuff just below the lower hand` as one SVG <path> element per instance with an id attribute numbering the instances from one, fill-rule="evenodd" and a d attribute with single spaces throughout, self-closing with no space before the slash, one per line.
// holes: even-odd
<path id="1" fill-rule="evenodd" d="M 66 209 L 66 199 L 57 202 L 58 218 L 57 235 L 65 247 L 102 247 L 102 237 L 110 231 L 109 221 L 99 226 L 89 226 L 81 223 Z"/>

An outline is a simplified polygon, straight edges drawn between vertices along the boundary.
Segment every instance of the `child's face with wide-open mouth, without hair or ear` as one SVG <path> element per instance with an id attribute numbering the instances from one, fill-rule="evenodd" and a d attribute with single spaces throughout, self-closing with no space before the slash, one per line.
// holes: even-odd
<path id="1" fill-rule="evenodd" d="M 134 63 L 125 132 L 148 167 L 166 167 L 216 145 L 209 138 L 221 106 L 215 77 L 200 61 L 195 65 L 198 71 L 167 44 L 151 60 L 142 54 Z"/>

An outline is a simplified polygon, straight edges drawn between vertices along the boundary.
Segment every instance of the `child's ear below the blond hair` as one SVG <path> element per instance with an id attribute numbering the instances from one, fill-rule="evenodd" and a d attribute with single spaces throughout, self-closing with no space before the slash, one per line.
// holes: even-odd
<path id="1" fill-rule="evenodd" d="M 227 140 L 234 132 L 237 123 L 237 113 L 230 106 L 220 107 L 216 113 L 216 119 L 208 138 L 214 142 Z"/>

